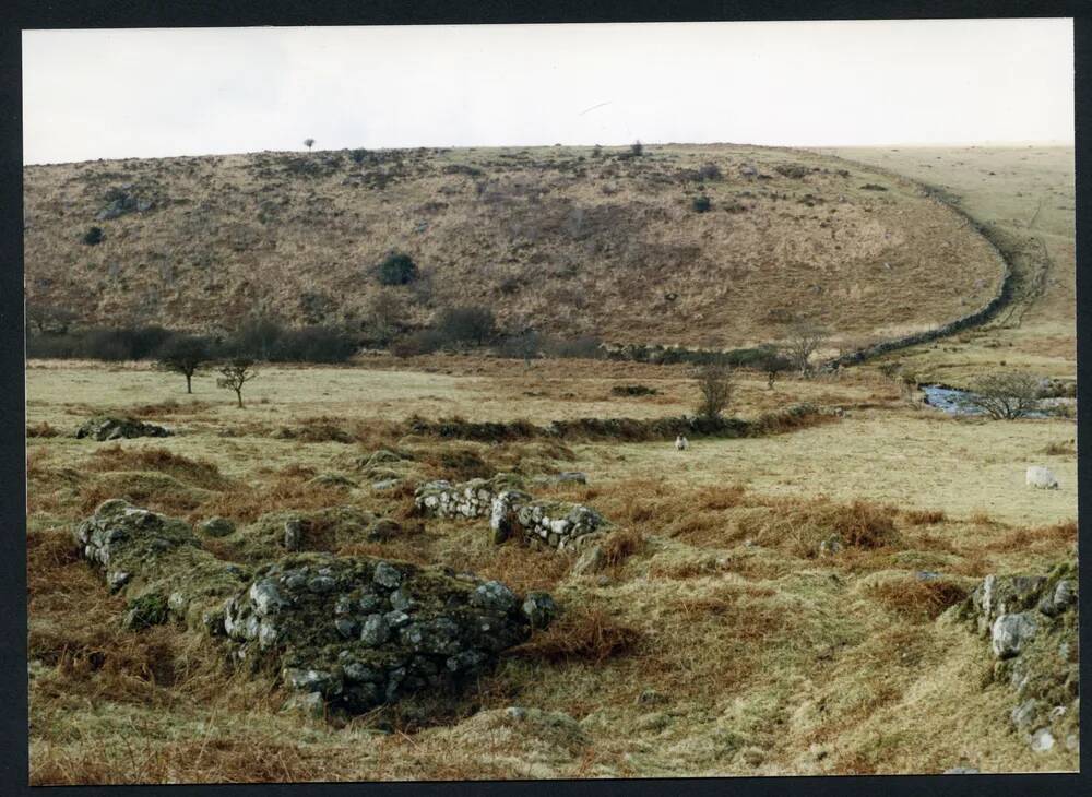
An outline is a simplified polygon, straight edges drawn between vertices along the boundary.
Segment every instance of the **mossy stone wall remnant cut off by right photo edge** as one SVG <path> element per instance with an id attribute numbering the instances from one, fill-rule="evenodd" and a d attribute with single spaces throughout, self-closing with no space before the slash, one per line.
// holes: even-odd
<path id="1" fill-rule="evenodd" d="M 993 680 L 1016 692 L 1010 721 L 1033 750 L 1080 744 L 1077 562 L 1046 575 L 987 575 L 950 609 L 989 640 Z"/>

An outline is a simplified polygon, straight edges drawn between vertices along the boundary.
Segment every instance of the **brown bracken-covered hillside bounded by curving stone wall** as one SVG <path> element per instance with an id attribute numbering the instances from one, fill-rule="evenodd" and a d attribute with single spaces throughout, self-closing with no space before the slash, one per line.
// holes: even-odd
<path id="1" fill-rule="evenodd" d="M 912 181 L 787 150 L 258 153 L 24 177 L 27 299 L 83 324 L 227 330 L 263 311 L 361 329 L 381 306 L 419 326 L 483 304 L 509 329 L 702 347 L 778 338 L 806 312 L 857 345 L 964 316 L 1004 273 Z M 379 283 L 391 250 L 415 283 Z"/>

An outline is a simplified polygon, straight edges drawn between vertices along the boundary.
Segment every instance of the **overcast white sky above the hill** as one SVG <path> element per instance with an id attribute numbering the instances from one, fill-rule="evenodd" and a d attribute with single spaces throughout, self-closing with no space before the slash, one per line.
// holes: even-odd
<path id="1" fill-rule="evenodd" d="M 24 162 L 1064 142 L 1069 20 L 28 31 Z"/>

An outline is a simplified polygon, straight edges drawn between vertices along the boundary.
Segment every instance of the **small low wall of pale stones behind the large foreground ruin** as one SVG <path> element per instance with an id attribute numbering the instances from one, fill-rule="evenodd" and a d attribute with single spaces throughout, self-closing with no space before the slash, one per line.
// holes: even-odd
<path id="1" fill-rule="evenodd" d="M 536 501 L 508 474 L 460 485 L 429 481 L 417 488 L 414 505 L 437 518 L 489 518 L 492 540 L 521 535 L 534 545 L 579 550 L 602 536 L 607 521 L 590 507 Z"/>

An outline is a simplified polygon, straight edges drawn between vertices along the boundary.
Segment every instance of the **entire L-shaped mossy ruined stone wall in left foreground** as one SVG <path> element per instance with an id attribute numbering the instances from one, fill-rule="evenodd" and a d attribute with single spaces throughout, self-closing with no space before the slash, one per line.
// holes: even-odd
<path id="1" fill-rule="evenodd" d="M 74 532 L 143 624 L 181 619 L 312 707 L 368 711 L 454 694 L 545 628 L 546 593 L 375 557 L 294 554 L 254 569 L 216 559 L 189 524 L 115 499 Z"/>

